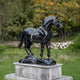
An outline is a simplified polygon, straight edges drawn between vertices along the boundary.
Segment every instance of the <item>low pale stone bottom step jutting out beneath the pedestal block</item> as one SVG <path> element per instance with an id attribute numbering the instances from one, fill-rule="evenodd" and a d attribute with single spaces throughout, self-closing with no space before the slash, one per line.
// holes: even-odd
<path id="1" fill-rule="evenodd" d="M 18 77 L 18 76 L 15 76 L 15 73 L 5 75 L 5 79 L 6 80 L 36 80 L 36 79 Z M 56 80 L 73 80 L 73 78 L 71 76 L 62 76 L 61 79 L 56 79 Z"/>

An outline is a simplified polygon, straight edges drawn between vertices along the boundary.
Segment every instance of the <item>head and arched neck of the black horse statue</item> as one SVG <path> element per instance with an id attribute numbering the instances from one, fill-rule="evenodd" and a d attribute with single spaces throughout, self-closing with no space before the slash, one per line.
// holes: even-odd
<path id="1" fill-rule="evenodd" d="M 62 23 L 59 21 L 59 19 L 57 17 L 53 17 L 53 16 L 50 16 L 50 17 L 47 17 L 46 19 L 44 19 L 42 25 L 45 29 L 48 29 L 48 30 L 51 29 L 52 25 L 54 25 L 60 29 L 63 27 Z"/>

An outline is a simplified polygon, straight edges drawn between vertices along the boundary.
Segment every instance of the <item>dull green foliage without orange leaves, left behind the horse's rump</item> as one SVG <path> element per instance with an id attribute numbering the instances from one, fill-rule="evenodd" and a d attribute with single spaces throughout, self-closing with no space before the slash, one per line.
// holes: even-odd
<path id="1" fill-rule="evenodd" d="M 20 31 L 26 27 L 33 27 L 32 19 L 34 9 L 31 4 L 23 3 L 22 0 L 3 1 L 2 14 L 2 36 L 4 40 L 16 40 Z M 1 3 L 2 4 L 2 3 Z M 3 7 L 3 5 L 2 5 Z M 6 35 L 5 35 L 6 34 Z"/>

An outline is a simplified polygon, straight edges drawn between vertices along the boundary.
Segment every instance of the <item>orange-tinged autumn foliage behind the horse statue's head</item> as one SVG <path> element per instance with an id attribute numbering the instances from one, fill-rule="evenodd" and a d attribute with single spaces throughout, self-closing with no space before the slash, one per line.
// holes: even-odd
<path id="1" fill-rule="evenodd" d="M 79 0 L 34 0 L 34 27 L 37 28 L 47 16 L 58 16 L 63 23 L 64 30 L 59 34 L 62 40 L 79 29 L 80 5 Z M 54 29 L 54 26 L 53 26 Z M 58 31 L 58 29 L 56 29 Z M 54 31 L 53 31 L 54 32 Z M 62 36 L 63 35 L 63 36 Z"/>

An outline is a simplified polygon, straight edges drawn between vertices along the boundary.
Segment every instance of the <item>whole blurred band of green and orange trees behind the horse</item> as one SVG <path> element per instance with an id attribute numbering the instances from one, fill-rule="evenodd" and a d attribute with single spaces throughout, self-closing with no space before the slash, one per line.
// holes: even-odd
<path id="1" fill-rule="evenodd" d="M 80 0 L 0 0 L 0 40 L 17 40 L 25 28 L 38 28 L 48 16 L 57 16 L 63 26 L 58 38 L 68 37 L 80 30 Z"/>

